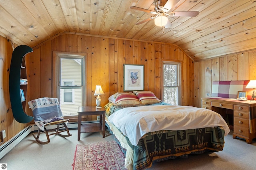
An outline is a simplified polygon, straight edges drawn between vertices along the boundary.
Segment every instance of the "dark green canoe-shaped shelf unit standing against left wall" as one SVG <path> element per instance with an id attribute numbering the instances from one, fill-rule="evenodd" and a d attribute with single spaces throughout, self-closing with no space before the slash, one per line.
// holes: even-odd
<path id="1" fill-rule="evenodd" d="M 13 117 L 20 123 L 28 123 L 33 120 L 32 116 L 25 113 L 27 84 L 20 84 L 20 78 L 27 78 L 24 57 L 27 53 L 32 51 L 33 49 L 31 47 L 28 47 L 27 45 L 20 45 L 16 47 L 12 53 L 9 75 L 10 101 Z M 24 91 L 25 101 L 23 102 L 20 96 L 20 89 Z"/>

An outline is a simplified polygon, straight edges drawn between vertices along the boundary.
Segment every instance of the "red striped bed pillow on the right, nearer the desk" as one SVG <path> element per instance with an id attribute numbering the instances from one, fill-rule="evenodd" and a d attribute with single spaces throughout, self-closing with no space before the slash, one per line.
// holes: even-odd
<path id="1" fill-rule="evenodd" d="M 138 97 L 140 104 L 154 104 L 160 102 L 158 98 L 150 91 L 134 91 L 134 94 Z"/>

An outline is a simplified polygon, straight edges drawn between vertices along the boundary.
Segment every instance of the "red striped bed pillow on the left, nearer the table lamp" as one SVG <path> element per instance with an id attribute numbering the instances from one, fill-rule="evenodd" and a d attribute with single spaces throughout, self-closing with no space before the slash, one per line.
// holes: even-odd
<path id="1" fill-rule="evenodd" d="M 116 104 L 118 105 L 138 105 L 140 101 L 137 96 L 133 93 L 119 92 L 115 94 Z"/>

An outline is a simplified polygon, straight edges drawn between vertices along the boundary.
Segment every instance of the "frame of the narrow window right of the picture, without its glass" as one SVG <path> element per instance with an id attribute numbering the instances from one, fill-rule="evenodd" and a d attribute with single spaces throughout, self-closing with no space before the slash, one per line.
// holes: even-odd
<path id="1" fill-rule="evenodd" d="M 177 86 L 164 86 L 164 64 L 171 64 L 171 65 L 176 65 L 177 66 L 177 72 L 176 72 L 176 76 L 177 76 Z M 177 96 L 177 100 L 178 103 L 177 105 L 180 105 L 180 78 L 181 78 L 181 63 L 180 62 L 174 62 L 174 61 L 162 61 L 162 100 L 164 100 L 164 89 L 165 88 L 178 88 L 178 96 Z"/>

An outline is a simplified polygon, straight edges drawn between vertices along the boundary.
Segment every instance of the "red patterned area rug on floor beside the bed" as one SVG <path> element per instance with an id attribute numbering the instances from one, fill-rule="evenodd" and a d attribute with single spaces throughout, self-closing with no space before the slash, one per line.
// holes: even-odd
<path id="1" fill-rule="evenodd" d="M 115 141 L 76 145 L 73 170 L 126 170 L 124 154 Z"/>

